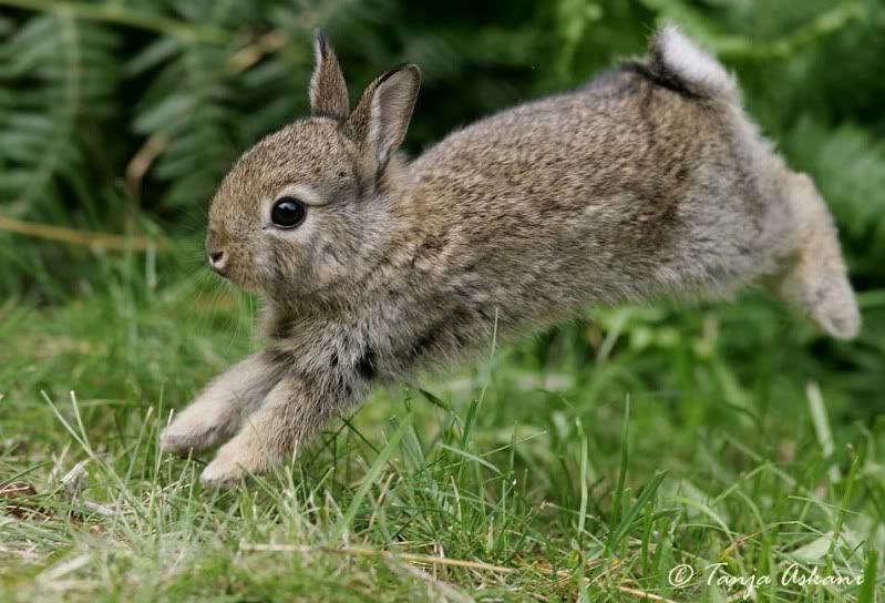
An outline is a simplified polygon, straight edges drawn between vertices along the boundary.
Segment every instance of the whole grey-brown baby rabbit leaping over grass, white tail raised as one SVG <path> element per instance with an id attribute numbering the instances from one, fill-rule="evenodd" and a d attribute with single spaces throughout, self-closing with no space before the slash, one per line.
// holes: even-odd
<path id="1" fill-rule="evenodd" d="M 421 71 L 374 80 L 351 111 L 315 40 L 311 115 L 246 152 L 209 211 L 206 252 L 267 298 L 267 347 L 162 435 L 225 442 L 202 481 L 296 454 L 373 384 L 463 357 L 594 304 L 724 298 L 754 282 L 833 337 L 860 317 L 812 181 L 744 114 L 737 84 L 673 27 L 587 86 L 397 153 Z"/>

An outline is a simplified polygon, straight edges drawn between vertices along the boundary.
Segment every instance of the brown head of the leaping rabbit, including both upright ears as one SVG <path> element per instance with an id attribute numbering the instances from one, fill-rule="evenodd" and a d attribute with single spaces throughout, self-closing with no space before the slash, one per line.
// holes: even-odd
<path id="1" fill-rule="evenodd" d="M 351 112 L 335 52 L 315 37 L 311 115 L 247 151 L 209 208 L 206 253 L 235 285 L 291 299 L 350 282 L 390 232 L 421 72 L 404 64 L 375 79 Z M 381 237 L 381 238 L 380 238 Z"/>

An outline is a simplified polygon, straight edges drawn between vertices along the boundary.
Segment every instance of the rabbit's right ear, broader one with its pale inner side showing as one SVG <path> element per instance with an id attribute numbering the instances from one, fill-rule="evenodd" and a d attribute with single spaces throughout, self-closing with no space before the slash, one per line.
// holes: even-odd
<path id="1" fill-rule="evenodd" d="M 391 69 L 366 89 L 348 123 L 377 170 L 402 144 L 421 88 L 421 70 L 415 64 Z M 369 159 L 369 157 L 367 157 Z"/>

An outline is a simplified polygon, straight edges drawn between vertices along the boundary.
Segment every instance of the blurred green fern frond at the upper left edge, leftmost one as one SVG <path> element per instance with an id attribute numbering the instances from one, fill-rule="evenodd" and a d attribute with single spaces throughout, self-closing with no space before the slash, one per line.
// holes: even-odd
<path id="1" fill-rule="evenodd" d="M 0 198 L 3 213 L 50 212 L 59 185 L 84 170 L 80 127 L 111 111 L 116 35 L 63 12 L 30 19 L 0 47 Z"/>

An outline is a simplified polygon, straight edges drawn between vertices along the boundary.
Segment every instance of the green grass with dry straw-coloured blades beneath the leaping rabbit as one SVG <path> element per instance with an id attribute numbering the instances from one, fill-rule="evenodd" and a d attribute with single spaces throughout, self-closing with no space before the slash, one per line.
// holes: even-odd
<path id="1" fill-rule="evenodd" d="M 255 302 L 89 260 L 0 305 L 0 601 L 883 601 L 883 292 L 853 344 L 753 294 L 490 341 L 218 493 L 157 433 Z"/>

